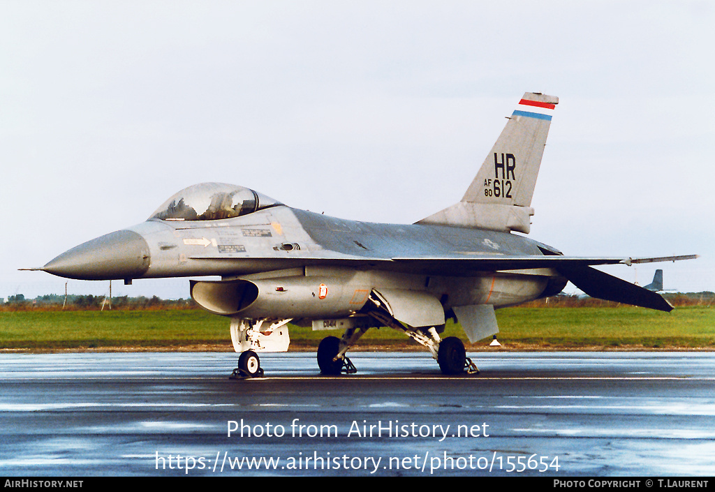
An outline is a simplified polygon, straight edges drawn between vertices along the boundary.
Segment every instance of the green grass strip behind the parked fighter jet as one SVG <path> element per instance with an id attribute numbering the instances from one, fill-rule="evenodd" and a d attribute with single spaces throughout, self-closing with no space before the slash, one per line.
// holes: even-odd
<path id="1" fill-rule="evenodd" d="M 497 311 L 503 350 L 707 349 L 715 350 L 715 309 L 508 308 Z M 203 310 L 3 311 L 0 349 L 11 350 L 232 350 L 229 320 Z M 291 327 L 290 350 L 315 348 L 326 335 Z M 443 336 L 465 342 L 459 325 Z M 487 341 L 468 344 L 486 348 Z M 358 342 L 377 350 L 425 350 L 405 335 L 382 328 Z"/>

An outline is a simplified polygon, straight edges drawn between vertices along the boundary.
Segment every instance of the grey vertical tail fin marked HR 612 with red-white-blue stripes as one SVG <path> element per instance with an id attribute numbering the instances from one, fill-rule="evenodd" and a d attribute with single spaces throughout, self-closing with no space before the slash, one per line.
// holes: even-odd
<path id="1" fill-rule="evenodd" d="M 528 234 L 531 197 L 558 97 L 526 92 L 462 200 L 420 220 Z"/>

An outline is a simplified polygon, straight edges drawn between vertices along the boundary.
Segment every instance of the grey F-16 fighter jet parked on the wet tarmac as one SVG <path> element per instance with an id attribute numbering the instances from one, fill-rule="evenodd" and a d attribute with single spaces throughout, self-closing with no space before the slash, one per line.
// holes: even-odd
<path id="1" fill-rule="evenodd" d="M 591 297 L 672 309 L 656 292 L 593 265 L 683 260 L 572 257 L 528 239 L 531 198 L 558 98 L 527 92 L 462 200 L 411 225 L 342 220 L 297 210 L 233 184 L 178 192 L 146 222 L 85 242 L 41 267 L 84 280 L 190 280 L 193 299 L 230 318 L 235 375 L 262 375 L 257 353 L 285 351 L 287 323 L 342 330 L 317 349 L 322 373 L 355 372 L 346 357 L 370 328 L 400 330 L 447 375 L 475 372 L 474 343 L 498 333 L 495 308 L 556 295 L 569 280 Z M 521 233 L 521 234 L 519 234 Z"/>

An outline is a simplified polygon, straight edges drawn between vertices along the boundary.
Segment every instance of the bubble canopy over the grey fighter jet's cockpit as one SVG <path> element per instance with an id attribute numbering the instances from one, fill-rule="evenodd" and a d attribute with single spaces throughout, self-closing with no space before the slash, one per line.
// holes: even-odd
<path id="1" fill-rule="evenodd" d="M 159 207 L 149 220 L 219 220 L 283 205 L 249 188 L 200 183 L 184 188 Z"/>

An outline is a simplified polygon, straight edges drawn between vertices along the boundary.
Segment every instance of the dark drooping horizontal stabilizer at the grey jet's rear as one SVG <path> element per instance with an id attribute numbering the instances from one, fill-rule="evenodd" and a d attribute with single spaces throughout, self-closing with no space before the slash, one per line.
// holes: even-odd
<path id="1" fill-rule="evenodd" d="M 623 302 L 641 308 L 656 309 L 670 313 L 673 306 L 661 295 L 638 285 L 608 275 L 595 268 L 583 265 L 559 265 L 558 272 L 573 285 L 596 299 Z"/>

